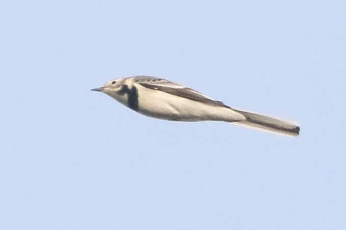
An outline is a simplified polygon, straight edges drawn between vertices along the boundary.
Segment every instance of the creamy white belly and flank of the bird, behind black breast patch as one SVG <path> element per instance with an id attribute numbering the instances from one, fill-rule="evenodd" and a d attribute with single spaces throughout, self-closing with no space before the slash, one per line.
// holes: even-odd
<path id="1" fill-rule="evenodd" d="M 178 121 L 244 121 L 245 116 L 226 107 L 206 105 L 159 90 L 134 84 L 139 94 L 139 113 L 164 120 Z"/>

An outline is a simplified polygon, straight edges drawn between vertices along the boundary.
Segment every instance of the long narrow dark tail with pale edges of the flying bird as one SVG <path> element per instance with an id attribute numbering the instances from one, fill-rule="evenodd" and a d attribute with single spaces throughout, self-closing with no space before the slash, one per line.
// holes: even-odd
<path id="1" fill-rule="evenodd" d="M 234 123 L 247 125 L 255 128 L 270 130 L 272 132 L 286 134 L 297 137 L 300 127 L 286 121 L 278 120 L 261 114 L 250 113 L 242 110 L 233 109 L 235 112 L 241 113 L 246 117 L 245 121 L 235 121 Z"/>

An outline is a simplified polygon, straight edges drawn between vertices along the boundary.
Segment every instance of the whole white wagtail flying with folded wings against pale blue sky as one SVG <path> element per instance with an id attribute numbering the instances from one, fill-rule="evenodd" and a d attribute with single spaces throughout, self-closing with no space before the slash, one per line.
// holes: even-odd
<path id="1" fill-rule="evenodd" d="M 140 114 L 158 119 L 234 122 L 290 136 L 298 136 L 300 131 L 297 125 L 233 109 L 191 88 L 162 78 L 119 78 L 91 90 L 103 92 Z"/>

